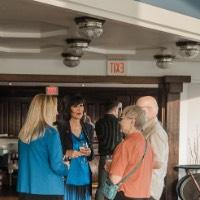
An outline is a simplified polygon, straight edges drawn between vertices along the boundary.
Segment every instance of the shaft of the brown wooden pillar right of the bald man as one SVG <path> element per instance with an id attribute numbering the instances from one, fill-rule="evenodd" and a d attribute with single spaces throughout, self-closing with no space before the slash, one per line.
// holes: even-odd
<path id="1" fill-rule="evenodd" d="M 176 200 L 178 173 L 174 167 L 179 161 L 180 93 L 168 93 L 166 102 L 166 130 L 169 137 L 169 160 L 166 177 L 166 198 Z"/>

